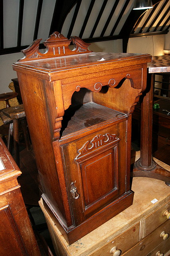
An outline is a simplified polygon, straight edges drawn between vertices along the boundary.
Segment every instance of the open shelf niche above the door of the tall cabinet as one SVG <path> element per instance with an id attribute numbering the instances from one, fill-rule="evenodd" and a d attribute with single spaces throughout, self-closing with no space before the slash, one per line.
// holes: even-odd
<path id="1" fill-rule="evenodd" d="M 103 92 L 108 90 L 107 86 L 104 87 Z M 61 140 L 69 134 L 76 134 L 82 130 L 94 128 L 99 124 L 107 124 L 122 117 L 127 117 L 127 115 L 96 104 L 93 101 L 93 93 L 86 88 L 81 88 L 79 92 L 73 93 L 71 105 L 64 112 Z"/>

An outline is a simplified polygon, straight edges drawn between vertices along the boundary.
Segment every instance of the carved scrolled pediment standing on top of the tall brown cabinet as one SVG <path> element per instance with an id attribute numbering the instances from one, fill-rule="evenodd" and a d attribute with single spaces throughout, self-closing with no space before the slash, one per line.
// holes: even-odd
<path id="1" fill-rule="evenodd" d="M 47 40 L 43 42 L 46 47 L 46 52 L 39 52 L 39 44 L 42 39 L 37 39 L 30 44 L 28 48 L 25 50 L 21 50 L 23 52 L 24 57 L 18 62 L 29 61 L 35 59 L 45 59 L 45 58 L 53 58 L 53 57 L 61 57 L 66 55 L 73 54 L 82 54 L 92 52 L 88 50 L 88 46 L 90 44 L 85 43 L 78 36 L 71 36 L 71 39 L 67 39 L 60 34 L 59 32 L 54 32 Z M 68 47 L 70 43 L 74 44 L 74 49 L 70 50 Z"/>

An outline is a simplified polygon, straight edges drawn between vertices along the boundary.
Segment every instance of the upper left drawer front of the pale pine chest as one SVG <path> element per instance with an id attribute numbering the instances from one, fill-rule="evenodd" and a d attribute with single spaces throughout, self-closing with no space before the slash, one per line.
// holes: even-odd
<path id="1" fill-rule="evenodd" d="M 99 247 L 95 252 L 89 254 L 89 256 L 111 256 L 111 248 L 117 246 L 123 252 L 130 249 L 139 241 L 139 223 L 132 226 L 125 232 L 121 233 L 119 236 L 116 236 L 110 240 L 107 244 L 102 247 Z"/>

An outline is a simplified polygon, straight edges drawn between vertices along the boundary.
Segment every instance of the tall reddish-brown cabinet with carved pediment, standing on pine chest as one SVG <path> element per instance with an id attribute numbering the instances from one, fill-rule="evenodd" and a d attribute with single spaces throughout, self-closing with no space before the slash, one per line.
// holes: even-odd
<path id="1" fill-rule="evenodd" d="M 74 50 L 69 50 L 70 42 Z M 149 54 L 92 53 L 58 32 L 13 64 L 43 201 L 68 243 L 133 202 L 131 113 L 146 87 Z"/>

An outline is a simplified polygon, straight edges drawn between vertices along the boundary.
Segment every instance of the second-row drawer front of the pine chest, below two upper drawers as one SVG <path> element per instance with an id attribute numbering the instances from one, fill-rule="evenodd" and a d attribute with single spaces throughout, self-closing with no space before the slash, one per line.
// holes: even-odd
<path id="1" fill-rule="evenodd" d="M 145 256 L 149 254 L 156 246 L 160 243 L 166 244 L 167 242 L 170 244 L 170 238 L 167 240 L 163 240 L 163 237 L 160 236 L 162 231 L 170 234 L 170 224 L 169 222 L 163 223 L 160 227 L 154 230 L 149 236 L 145 237 L 141 242 L 135 245 L 132 249 L 128 250 L 122 256 Z M 121 250 L 121 247 L 117 248 Z"/>

